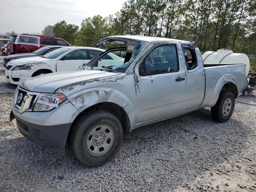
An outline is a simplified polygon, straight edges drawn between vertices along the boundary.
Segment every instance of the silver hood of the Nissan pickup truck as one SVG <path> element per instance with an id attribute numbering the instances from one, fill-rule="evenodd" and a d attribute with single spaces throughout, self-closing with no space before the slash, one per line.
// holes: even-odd
<path id="1" fill-rule="evenodd" d="M 23 82 L 21 87 L 32 92 L 54 93 L 58 88 L 69 84 L 118 74 L 98 70 L 57 72 L 30 78 Z"/>

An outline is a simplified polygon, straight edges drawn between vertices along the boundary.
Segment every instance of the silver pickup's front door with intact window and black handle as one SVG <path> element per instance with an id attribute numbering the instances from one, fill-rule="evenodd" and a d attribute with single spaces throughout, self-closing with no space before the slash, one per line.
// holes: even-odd
<path id="1" fill-rule="evenodd" d="M 162 44 L 151 49 L 135 70 L 140 122 L 172 116 L 186 110 L 186 74 L 178 45 Z"/>

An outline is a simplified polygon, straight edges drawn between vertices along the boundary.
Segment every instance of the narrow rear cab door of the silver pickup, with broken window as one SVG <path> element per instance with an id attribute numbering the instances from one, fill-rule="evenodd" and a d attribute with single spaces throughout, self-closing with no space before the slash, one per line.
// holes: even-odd
<path id="1" fill-rule="evenodd" d="M 186 110 L 198 108 L 204 100 L 205 74 L 202 56 L 198 48 L 182 44 L 187 78 Z"/>

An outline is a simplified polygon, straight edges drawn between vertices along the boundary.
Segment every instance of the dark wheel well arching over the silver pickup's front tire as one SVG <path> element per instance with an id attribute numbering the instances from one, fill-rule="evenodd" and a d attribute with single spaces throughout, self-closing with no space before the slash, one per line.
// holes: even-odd
<path id="1" fill-rule="evenodd" d="M 82 111 L 77 117 L 83 116 L 86 112 L 90 112 L 92 110 L 105 110 L 112 114 L 114 114 L 121 122 L 124 134 L 128 134 L 130 132 L 130 120 L 128 115 L 126 114 L 125 110 L 120 107 L 119 105 L 112 103 L 112 102 L 102 102 L 95 104 L 93 106 L 90 106 L 89 108 Z M 73 121 L 76 122 L 76 119 Z M 72 126 L 71 126 L 72 127 Z"/>

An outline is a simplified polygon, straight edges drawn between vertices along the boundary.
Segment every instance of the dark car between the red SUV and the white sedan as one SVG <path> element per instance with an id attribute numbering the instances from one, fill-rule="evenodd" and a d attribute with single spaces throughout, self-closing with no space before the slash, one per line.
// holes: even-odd
<path id="1" fill-rule="evenodd" d="M 6 67 L 7 63 L 11 60 L 25 58 L 25 57 L 36 57 L 36 56 L 45 55 L 46 53 L 50 53 L 51 51 L 56 50 L 61 47 L 64 47 L 64 46 L 44 46 L 32 53 L 20 53 L 20 54 L 13 54 L 13 55 L 6 56 L 4 58 L 4 67 Z"/>

